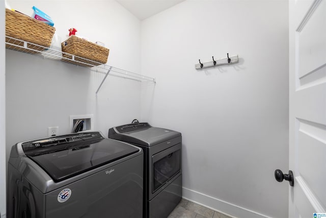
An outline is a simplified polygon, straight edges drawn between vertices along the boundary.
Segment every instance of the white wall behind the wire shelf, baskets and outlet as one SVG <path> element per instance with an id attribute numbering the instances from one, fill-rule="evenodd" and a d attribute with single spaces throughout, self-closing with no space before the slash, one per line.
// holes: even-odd
<path id="1" fill-rule="evenodd" d="M 22 13 L 49 14 L 60 37 L 74 27 L 110 49 L 108 64 L 140 73 L 140 21 L 115 1 L 8 1 Z M 64 39 L 63 39 L 64 40 Z M 94 114 L 95 130 L 140 116 L 141 83 L 88 68 L 6 50 L 7 160 L 13 144 L 47 136 L 47 127 L 70 133 L 69 115 Z"/>

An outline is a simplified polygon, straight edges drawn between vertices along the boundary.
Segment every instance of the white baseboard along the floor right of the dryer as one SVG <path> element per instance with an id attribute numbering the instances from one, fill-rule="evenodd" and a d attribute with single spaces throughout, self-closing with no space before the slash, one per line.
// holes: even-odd
<path id="1" fill-rule="evenodd" d="M 234 218 L 271 218 L 185 187 L 182 187 L 182 198 Z"/>

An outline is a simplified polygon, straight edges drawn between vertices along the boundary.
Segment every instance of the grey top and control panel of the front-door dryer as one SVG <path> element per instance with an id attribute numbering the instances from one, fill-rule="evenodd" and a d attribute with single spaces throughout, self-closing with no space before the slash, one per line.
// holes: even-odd
<path id="1" fill-rule="evenodd" d="M 181 136 L 181 133 L 169 129 L 151 127 L 148 123 L 127 124 L 111 128 L 108 131 L 109 138 L 146 147 L 154 146 L 178 136 Z"/>

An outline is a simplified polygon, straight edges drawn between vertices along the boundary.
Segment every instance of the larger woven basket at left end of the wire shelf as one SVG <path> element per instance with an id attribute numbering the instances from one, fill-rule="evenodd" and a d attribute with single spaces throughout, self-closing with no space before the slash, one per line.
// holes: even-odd
<path id="1" fill-rule="evenodd" d="M 51 27 L 42 21 L 36 20 L 16 11 L 11 11 L 6 8 L 6 36 L 42 45 L 44 47 L 49 47 L 55 32 L 56 28 Z M 23 42 L 18 40 L 15 41 L 8 37 L 6 37 L 6 42 L 23 46 Z M 22 48 L 8 44 L 6 44 L 6 47 L 8 49 L 23 51 L 26 53 L 38 53 L 34 51 L 24 50 Z M 30 43 L 28 43 L 28 47 L 37 51 L 44 50 L 44 47 Z"/>

